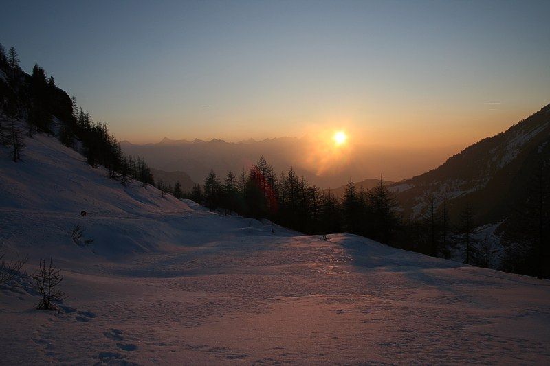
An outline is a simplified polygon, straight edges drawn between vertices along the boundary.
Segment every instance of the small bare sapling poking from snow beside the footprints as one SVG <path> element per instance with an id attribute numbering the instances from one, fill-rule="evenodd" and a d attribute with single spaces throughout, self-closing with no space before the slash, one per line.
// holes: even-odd
<path id="1" fill-rule="evenodd" d="M 46 260 L 40 260 L 40 268 L 38 273 L 33 276 L 34 286 L 42 295 L 39 304 L 36 305 L 38 310 L 56 310 L 56 301 L 65 299 L 65 294 L 58 288 L 63 281 L 61 270 L 54 266 L 54 261 L 50 257 L 50 264 L 46 265 Z"/>

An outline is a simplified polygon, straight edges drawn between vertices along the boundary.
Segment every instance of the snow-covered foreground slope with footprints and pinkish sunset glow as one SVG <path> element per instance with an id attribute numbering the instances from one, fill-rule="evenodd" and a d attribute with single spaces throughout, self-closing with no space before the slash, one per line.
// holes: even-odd
<path id="1" fill-rule="evenodd" d="M 272 233 L 26 142 L 19 163 L 0 151 L 0 240 L 28 271 L 52 255 L 68 297 L 41 312 L 28 281 L 0 288 L 1 363 L 550 363 L 547 280 Z"/>

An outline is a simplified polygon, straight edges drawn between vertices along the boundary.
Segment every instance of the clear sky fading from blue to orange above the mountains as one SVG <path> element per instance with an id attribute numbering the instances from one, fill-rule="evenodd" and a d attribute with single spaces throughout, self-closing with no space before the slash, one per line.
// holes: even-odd
<path id="1" fill-rule="evenodd" d="M 3 1 L 0 42 L 119 140 L 465 147 L 550 102 L 550 1 Z"/>

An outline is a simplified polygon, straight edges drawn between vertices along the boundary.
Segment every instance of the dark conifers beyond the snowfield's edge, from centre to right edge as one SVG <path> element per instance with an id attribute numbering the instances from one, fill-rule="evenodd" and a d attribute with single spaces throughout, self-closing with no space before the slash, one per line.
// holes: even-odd
<path id="1" fill-rule="evenodd" d="M 173 187 L 159 181 L 158 188 L 163 194 L 202 203 L 211 211 L 267 218 L 301 233 L 323 238 L 329 233 L 354 233 L 434 257 L 461 258 L 465 264 L 548 277 L 547 170 L 546 175 L 541 171 L 533 179 L 531 198 L 518 211 L 522 220 L 509 220 L 514 225 L 499 233 L 500 249 L 494 236 L 480 232 L 472 204 L 451 217 L 447 198 L 428 198 L 423 215 L 404 218 L 395 194 L 382 177 L 368 191 L 358 189 L 350 180 L 343 196 L 336 197 L 330 190 L 320 190 L 297 176 L 292 168 L 277 175 L 261 157 L 250 170 L 243 169 L 239 174 L 228 172 L 220 177 L 210 170 L 204 183 L 195 184 L 190 192 L 184 192 L 179 181 Z"/>

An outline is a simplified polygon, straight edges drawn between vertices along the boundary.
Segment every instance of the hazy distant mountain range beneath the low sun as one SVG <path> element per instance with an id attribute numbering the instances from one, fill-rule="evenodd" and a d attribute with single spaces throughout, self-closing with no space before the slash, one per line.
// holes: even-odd
<path id="1" fill-rule="evenodd" d="M 399 181 L 435 168 L 445 157 L 459 151 L 458 146 L 426 150 L 358 144 L 340 160 L 327 163 L 319 151 L 320 141 L 311 136 L 239 142 L 164 138 L 155 144 L 141 145 L 121 141 L 120 146 L 126 154 L 142 155 L 155 169 L 186 172 L 197 183 L 204 181 L 210 169 L 219 176 L 230 170 L 238 175 L 263 156 L 277 174 L 292 167 L 298 176 L 321 188 L 340 187 L 349 179 L 360 181 L 380 174 L 388 181 Z"/>

